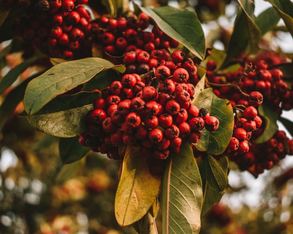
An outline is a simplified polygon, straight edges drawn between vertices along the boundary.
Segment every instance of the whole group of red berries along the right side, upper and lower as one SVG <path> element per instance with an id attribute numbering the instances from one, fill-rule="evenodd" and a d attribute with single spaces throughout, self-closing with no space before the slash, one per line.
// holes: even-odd
<path id="1" fill-rule="evenodd" d="M 234 130 L 225 154 L 229 156 L 230 161 L 234 161 L 242 171 L 248 170 L 255 177 L 263 173 L 264 169 L 270 169 L 273 165 L 279 163 L 287 154 L 293 154 L 293 141 L 290 140 L 284 131 L 278 131 L 267 142 L 255 144 L 254 141 L 264 132 L 262 119 L 258 116 L 258 101 L 251 100 L 265 99 L 266 104 L 271 105 L 273 111 L 281 114 L 282 110 L 292 109 L 293 92 L 289 89 L 287 83 L 282 80 L 283 73 L 278 68 L 268 69 L 265 58 L 254 59 L 256 70 L 251 71 L 246 77 L 243 77 L 239 87 L 244 93 L 250 93 L 249 99 L 243 98 L 235 87 L 227 87 L 226 84 L 237 82 L 243 72 L 243 68 L 228 72 L 225 79 L 217 76 L 213 71 L 217 64 L 213 60 L 207 61 L 207 78 L 214 84 L 223 86 L 213 87 L 213 92 L 220 98 L 229 99 L 232 106 L 246 107 L 242 113 L 242 118 L 238 118 L 237 113 L 234 119 Z M 270 66 L 279 64 L 270 60 Z M 257 91 L 253 91 L 257 90 Z M 260 94 L 261 92 L 261 94 Z M 261 95 L 261 96 L 260 96 Z M 259 99 L 260 97 L 260 99 Z M 253 107 L 255 106 L 255 107 Z M 239 113 L 239 114 L 240 114 Z M 241 156 L 239 156 L 241 154 Z"/>

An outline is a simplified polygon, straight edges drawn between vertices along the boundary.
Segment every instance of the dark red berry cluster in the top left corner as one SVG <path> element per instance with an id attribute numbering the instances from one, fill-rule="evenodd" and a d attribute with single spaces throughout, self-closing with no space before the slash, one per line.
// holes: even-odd
<path id="1" fill-rule="evenodd" d="M 81 6 L 87 1 L 18 0 L 25 15 L 16 20 L 14 31 L 25 44 L 42 49 L 52 57 L 90 56 L 91 15 Z"/>

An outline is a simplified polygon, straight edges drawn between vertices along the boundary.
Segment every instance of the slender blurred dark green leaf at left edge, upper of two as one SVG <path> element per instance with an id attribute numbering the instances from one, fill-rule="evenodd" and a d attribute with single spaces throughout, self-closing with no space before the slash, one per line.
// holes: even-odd
<path id="1" fill-rule="evenodd" d="M 39 57 L 34 57 L 31 59 L 24 60 L 22 63 L 18 64 L 15 68 L 11 69 L 0 82 L 0 94 L 2 94 L 13 82 L 18 78 L 18 76 L 29 66 L 33 65 Z"/>

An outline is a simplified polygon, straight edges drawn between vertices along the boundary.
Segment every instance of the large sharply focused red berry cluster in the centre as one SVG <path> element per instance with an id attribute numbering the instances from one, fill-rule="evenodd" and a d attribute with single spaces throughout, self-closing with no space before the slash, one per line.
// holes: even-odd
<path id="1" fill-rule="evenodd" d="M 148 54 L 142 51 L 138 56 L 142 53 Z M 171 58 L 173 63 L 184 64 L 181 50 L 174 51 Z M 192 105 L 195 87 L 188 81 L 189 73 L 182 67 L 159 66 L 142 77 L 123 75 L 121 82 L 113 81 L 94 101 L 80 143 L 112 159 L 120 159 L 119 144 L 140 147 L 144 156 L 166 159 L 170 152 L 180 152 L 182 142 L 199 142 L 202 130 L 217 130 L 219 120 Z"/>

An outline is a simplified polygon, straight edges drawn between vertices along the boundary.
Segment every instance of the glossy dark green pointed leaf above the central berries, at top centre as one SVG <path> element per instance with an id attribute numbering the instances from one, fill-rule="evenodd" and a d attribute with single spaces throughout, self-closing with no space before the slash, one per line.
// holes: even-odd
<path id="1" fill-rule="evenodd" d="M 171 6 L 138 7 L 153 18 L 159 28 L 168 36 L 180 42 L 201 60 L 205 58 L 205 35 L 194 11 Z"/>

